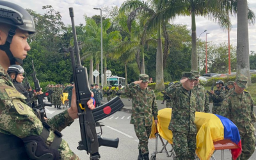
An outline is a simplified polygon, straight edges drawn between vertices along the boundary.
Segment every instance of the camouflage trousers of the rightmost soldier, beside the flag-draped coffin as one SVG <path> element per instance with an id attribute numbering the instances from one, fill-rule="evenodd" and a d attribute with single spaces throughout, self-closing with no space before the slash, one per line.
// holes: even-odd
<path id="1" fill-rule="evenodd" d="M 240 133 L 240 138 L 242 142 L 242 154 L 237 158 L 237 160 L 249 159 L 255 150 L 255 137 L 253 132 L 246 134 Z"/>

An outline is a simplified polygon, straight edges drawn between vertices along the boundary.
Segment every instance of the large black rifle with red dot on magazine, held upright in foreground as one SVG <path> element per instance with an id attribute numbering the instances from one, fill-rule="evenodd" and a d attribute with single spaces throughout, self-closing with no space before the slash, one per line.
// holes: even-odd
<path id="1" fill-rule="evenodd" d="M 115 106 L 118 106 L 118 105 L 115 105 L 113 102 L 118 102 L 118 104 L 120 104 L 121 100 L 116 98 L 115 101 L 111 100 L 108 102 L 108 103 L 112 103 L 109 106 L 106 106 L 108 105 L 108 103 L 106 103 L 93 110 L 88 108 L 87 102 L 88 100 L 90 100 L 92 93 L 90 92 L 90 87 L 88 83 L 87 69 L 81 65 L 81 61 L 80 61 L 79 47 L 77 44 L 77 36 L 76 36 L 76 27 L 74 24 L 73 8 L 69 8 L 69 13 L 70 13 L 70 18 L 72 22 L 72 31 L 74 35 L 74 47 L 76 51 L 76 60 L 75 60 L 75 55 L 72 47 L 69 47 L 69 49 L 63 48 L 63 51 L 70 52 L 73 77 L 74 77 L 74 86 L 76 88 L 76 104 L 77 104 L 77 111 L 78 111 L 77 115 L 79 117 L 81 139 L 82 139 L 81 141 L 79 141 L 79 146 L 77 147 L 77 149 L 86 150 L 87 154 L 90 153 L 91 160 L 98 160 L 100 159 L 99 147 L 103 145 L 106 147 L 117 148 L 119 139 L 116 138 L 115 140 L 110 140 L 110 139 L 102 138 L 101 127 L 104 125 L 100 125 L 98 122 L 96 123 L 94 120 L 94 117 L 101 114 L 104 116 L 108 116 L 115 113 L 116 111 L 114 112 L 114 110 L 117 110 Z M 119 107 L 120 106 L 123 107 L 124 104 L 119 105 Z M 106 108 L 109 111 L 109 113 L 106 113 Z M 95 112 L 93 113 L 94 110 Z M 101 118 L 97 118 L 97 120 L 100 120 L 100 119 Z M 96 127 L 100 127 L 101 134 L 99 135 L 97 134 Z"/>

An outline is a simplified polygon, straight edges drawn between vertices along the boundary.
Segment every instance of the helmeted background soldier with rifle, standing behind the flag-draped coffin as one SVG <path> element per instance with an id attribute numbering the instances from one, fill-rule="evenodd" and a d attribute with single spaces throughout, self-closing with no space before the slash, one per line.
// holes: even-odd
<path id="1" fill-rule="evenodd" d="M 209 101 L 213 102 L 212 113 L 220 115 L 221 104 L 225 98 L 225 90 L 223 90 L 224 82 L 219 80 L 216 82 L 217 90 L 212 91 L 209 97 Z"/>

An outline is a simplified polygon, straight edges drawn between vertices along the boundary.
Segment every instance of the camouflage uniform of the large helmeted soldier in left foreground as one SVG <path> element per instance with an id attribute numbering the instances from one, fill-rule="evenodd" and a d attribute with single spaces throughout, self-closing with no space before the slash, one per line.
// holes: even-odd
<path id="1" fill-rule="evenodd" d="M 26 105 L 26 97 L 19 93 L 9 80 L 3 67 L 0 65 L 0 134 L 27 138 L 29 136 L 40 136 L 43 125 L 37 118 L 33 109 Z M 49 137 L 45 144 L 49 147 L 56 134 L 54 130 L 62 131 L 74 122 L 67 111 L 47 120 L 51 126 Z M 0 135 L 1 136 L 1 135 Z M 79 159 L 70 150 L 66 141 L 62 140 L 60 148 L 60 159 Z"/>

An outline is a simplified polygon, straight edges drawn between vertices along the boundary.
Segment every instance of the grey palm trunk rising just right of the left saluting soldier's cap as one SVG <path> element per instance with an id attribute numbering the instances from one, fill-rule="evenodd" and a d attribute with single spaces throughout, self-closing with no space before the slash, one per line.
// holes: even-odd
<path id="1" fill-rule="evenodd" d="M 164 90 L 163 49 L 162 49 L 160 23 L 157 26 L 156 90 Z"/>

